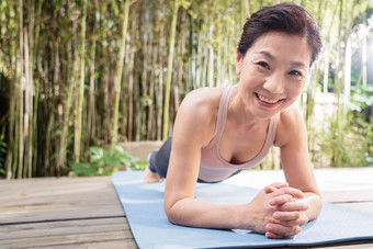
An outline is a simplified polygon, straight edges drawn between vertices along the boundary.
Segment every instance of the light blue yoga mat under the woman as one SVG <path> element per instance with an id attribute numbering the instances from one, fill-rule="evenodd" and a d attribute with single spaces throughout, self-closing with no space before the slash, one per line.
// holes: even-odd
<path id="1" fill-rule="evenodd" d="M 143 183 L 144 172 L 116 172 L 112 182 L 139 248 L 268 248 L 318 246 L 373 239 L 373 215 L 325 203 L 319 217 L 290 239 L 253 231 L 172 225 L 163 211 L 165 183 Z M 247 203 L 258 190 L 227 183 L 197 183 L 195 197 L 214 203 Z"/>

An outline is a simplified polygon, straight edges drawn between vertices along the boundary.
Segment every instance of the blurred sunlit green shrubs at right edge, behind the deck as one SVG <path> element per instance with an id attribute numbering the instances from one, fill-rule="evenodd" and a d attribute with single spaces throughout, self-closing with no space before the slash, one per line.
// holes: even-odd
<path id="1" fill-rule="evenodd" d="M 355 89 L 346 120 L 330 116 L 329 127 L 315 133 L 313 150 L 318 167 L 366 167 L 373 165 L 372 88 Z"/>

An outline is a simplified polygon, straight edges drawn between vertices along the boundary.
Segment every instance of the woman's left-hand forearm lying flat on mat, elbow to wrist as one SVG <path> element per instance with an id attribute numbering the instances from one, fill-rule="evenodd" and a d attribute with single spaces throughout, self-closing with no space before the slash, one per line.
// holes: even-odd
<path id="1" fill-rule="evenodd" d="M 177 225 L 234 229 L 242 228 L 245 204 L 215 204 L 195 199 L 176 202 L 166 213 Z"/>

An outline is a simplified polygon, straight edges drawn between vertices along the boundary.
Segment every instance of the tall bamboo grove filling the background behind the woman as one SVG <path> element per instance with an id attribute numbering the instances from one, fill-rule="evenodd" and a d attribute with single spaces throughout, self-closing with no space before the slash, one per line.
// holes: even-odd
<path id="1" fill-rule="evenodd" d="M 118 142 L 165 139 L 188 92 L 238 81 L 235 54 L 246 16 L 278 2 L 0 1 L 0 174 L 64 176 L 72 162 L 87 159 L 91 146 L 112 150 Z M 332 133 L 324 137 L 343 145 L 340 134 L 349 133 L 352 113 L 346 103 L 359 86 L 372 86 L 364 54 L 373 43 L 373 3 L 295 2 L 314 14 L 324 39 L 301 98 L 317 161 L 326 155 L 317 152 L 325 147 L 313 120 L 315 94 L 336 94 L 336 115 L 323 125 Z M 365 49 L 360 53 L 365 61 L 351 65 L 359 49 Z M 358 79 L 351 78 L 354 71 Z M 372 103 L 364 110 L 369 124 Z M 361 137 L 372 135 L 371 128 L 359 131 Z M 370 157 L 372 139 L 364 146 Z M 331 144 L 330 149 L 327 163 L 341 166 L 343 151 Z"/>

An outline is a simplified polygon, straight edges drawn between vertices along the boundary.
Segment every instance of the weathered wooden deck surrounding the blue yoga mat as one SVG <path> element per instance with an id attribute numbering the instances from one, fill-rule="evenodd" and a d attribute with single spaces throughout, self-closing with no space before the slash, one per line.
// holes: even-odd
<path id="1" fill-rule="evenodd" d="M 373 213 L 373 167 L 316 177 L 325 201 Z M 282 180 L 280 171 L 250 170 L 229 182 L 259 189 Z M 136 248 L 110 177 L 0 180 L 0 248 Z"/>

